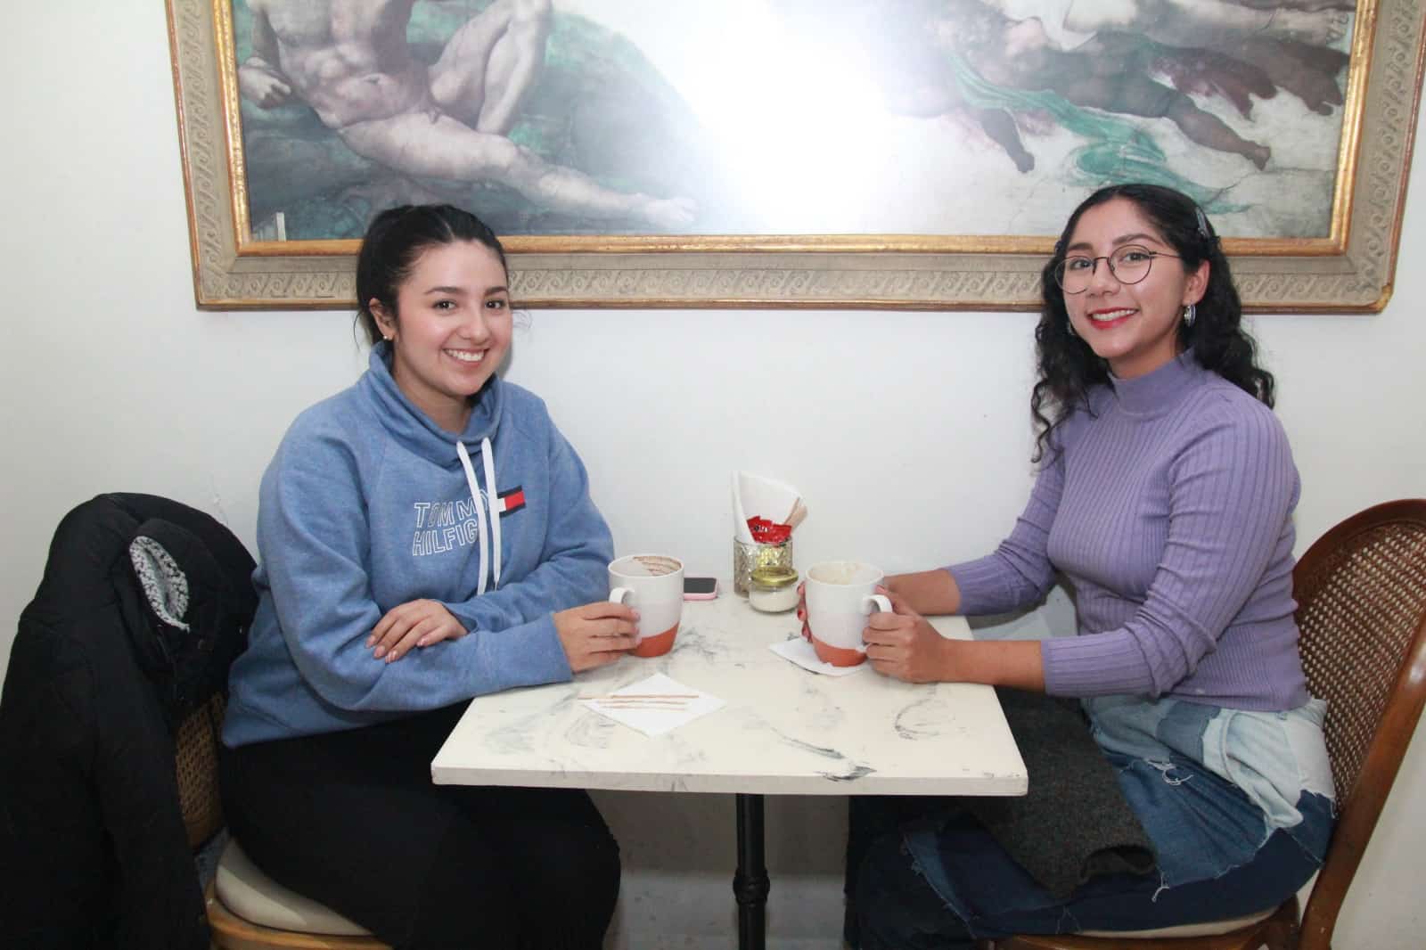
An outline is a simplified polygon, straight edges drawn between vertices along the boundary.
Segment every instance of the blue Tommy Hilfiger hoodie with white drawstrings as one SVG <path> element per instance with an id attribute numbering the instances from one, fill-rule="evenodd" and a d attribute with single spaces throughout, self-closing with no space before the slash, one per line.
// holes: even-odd
<path id="1" fill-rule="evenodd" d="M 302 412 L 262 475 L 230 746 L 566 680 L 552 613 L 609 592 L 609 528 L 545 404 L 492 377 L 455 438 L 396 388 L 389 354 L 378 344 L 356 385 Z M 375 659 L 376 620 L 421 598 L 469 633 Z"/>

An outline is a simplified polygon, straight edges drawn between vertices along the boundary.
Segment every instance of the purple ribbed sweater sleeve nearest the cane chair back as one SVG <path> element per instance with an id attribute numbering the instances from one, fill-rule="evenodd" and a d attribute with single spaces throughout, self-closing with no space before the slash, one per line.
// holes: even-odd
<path id="1" fill-rule="evenodd" d="M 1144 603 L 1118 629 L 1045 640 L 1045 692 L 1174 689 L 1262 582 L 1296 502 L 1296 468 L 1276 417 L 1221 409 L 1168 468 L 1168 539 Z"/>

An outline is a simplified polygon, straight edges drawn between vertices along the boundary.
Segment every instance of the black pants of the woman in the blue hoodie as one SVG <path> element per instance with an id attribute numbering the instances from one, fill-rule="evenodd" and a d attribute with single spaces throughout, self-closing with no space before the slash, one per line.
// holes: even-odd
<path id="1" fill-rule="evenodd" d="M 230 829 L 272 880 L 399 950 L 597 950 L 619 846 L 585 792 L 432 785 L 462 710 L 224 749 Z"/>

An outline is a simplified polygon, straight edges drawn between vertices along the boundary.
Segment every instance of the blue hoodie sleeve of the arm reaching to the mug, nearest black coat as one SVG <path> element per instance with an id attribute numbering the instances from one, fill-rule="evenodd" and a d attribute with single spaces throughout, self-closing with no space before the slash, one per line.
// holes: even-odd
<path id="1" fill-rule="evenodd" d="M 311 429 L 311 427 L 308 427 Z M 369 488 L 369 486 L 368 486 Z M 545 613 L 445 649 L 375 659 L 366 501 L 351 445 L 331 429 L 288 435 L 262 478 L 258 549 L 282 638 L 302 678 L 347 710 L 436 709 L 481 693 L 569 679 Z"/>

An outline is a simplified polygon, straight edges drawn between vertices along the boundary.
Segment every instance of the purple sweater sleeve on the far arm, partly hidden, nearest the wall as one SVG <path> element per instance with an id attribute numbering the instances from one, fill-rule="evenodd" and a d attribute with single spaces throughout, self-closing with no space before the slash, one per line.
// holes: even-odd
<path id="1" fill-rule="evenodd" d="M 961 592 L 961 613 L 1004 613 L 1045 596 L 1055 569 L 1047 546 L 1064 489 L 1064 455 L 1047 462 L 1035 479 L 1015 529 L 994 553 L 951 565 Z"/>

